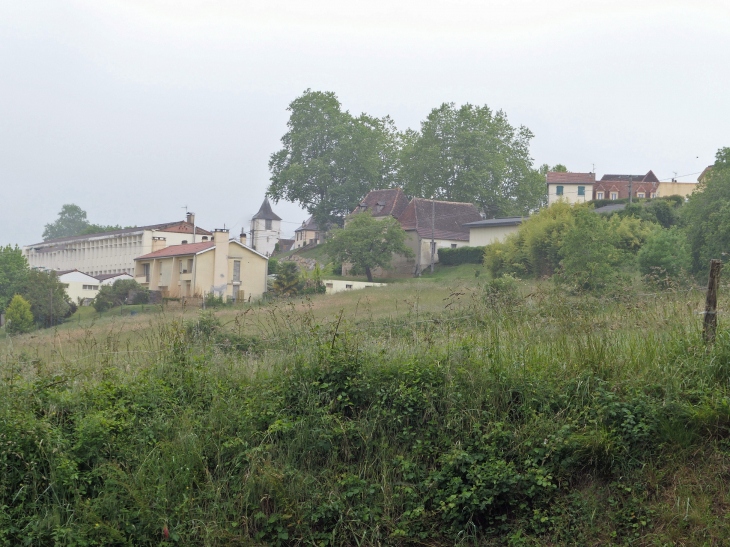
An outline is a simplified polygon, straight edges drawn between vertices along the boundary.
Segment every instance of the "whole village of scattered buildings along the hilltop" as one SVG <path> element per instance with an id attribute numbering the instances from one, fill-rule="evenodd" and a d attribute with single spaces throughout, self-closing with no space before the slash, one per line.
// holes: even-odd
<path id="1" fill-rule="evenodd" d="M 571 204 L 596 201 L 602 208 L 624 204 L 611 201 L 679 195 L 687 198 L 697 182 L 661 182 L 649 171 L 645 175 L 548 172 L 547 203 Z M 373 190 L 364 196 L 352 214 L 368 212 L 376 219 L 391 216 L 406 232 L 412 257 L 394 257 L 392 268 L 378 277 L 419 276 L 438 262 L 438 249 L 479 247 L 516 231 L 522 217 L 484 218 L 472 203 L 406 197 L 398 188 Z M 263 200 L 252 217 L 249 232 L 231 236 L 224 228 L 198 226 L 195 214 L 181 221 L 136 228 L 63 237 L 27 245 L 23 254 L 33 269 L 55 271 L 72 301 L 89 303 L 103 285 L 120 279 L 135 280 L 161 297 L 194 297 L 212 294 L 229 301 L 256 300 L 268 290 L 268 260 L 284 259 L 311 249 L 325 239 L 325 232 L 310 217 L 294 230 L 294 238 L 282 238 L 282 219 Z M 347 276 L 344 264 L 342 275 Z M 348 285 L 351 288 L 352 285 Z"/>

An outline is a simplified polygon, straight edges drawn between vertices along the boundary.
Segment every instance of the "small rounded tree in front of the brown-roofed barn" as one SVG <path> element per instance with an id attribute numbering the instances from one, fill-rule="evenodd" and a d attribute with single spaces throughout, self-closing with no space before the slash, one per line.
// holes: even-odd
<path id="1" fill-rule="evenodd" d="M 351 217 L 344 228 L 335 230 L 325 243 L 325 253 L 337 262 L 352 264 L 355 275 L 365 273 L 373 280 L 374 268 L 390 268 L 393 254 L 413 256 L 405 244 L 406 233 L 391 216 L 376 220 L 369 211 Z"/>

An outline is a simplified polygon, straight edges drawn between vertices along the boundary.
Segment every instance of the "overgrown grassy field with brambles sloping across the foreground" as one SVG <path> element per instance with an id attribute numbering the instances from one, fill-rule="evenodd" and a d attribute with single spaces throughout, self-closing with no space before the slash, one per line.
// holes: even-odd
<path id="1" fill-rule="evenodd" d="M 703 299 L 462 266 L 0 337 L 0 545 L 726 545 Z"/>

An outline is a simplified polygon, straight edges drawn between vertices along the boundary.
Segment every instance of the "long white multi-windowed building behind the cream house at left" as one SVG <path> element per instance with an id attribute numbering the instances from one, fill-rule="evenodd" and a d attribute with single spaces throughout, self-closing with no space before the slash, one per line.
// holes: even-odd
<path id="1" fill-rule="evenodd" d="M 212 233 L 195 225 L 195 214 L 186 220 L 125 228 L 83 236 L 61 237 L 23 247 L 31 268 L 80 270 L 89 275 L 134 273 L 134 259 L 152 251 L 153 238 L 168 245 L 208 241 Z"/>

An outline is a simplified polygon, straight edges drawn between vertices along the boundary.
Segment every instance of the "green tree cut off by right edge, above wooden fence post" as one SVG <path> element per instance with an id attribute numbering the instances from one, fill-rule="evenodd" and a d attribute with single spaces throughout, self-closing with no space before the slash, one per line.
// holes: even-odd
<path id="1" fill-rule="evenodd" d="M 710 259 L 730 253 L 730 148 L 718 150 L 715 163 L 681 209 L 692 271 L 705 272 Z"/>

